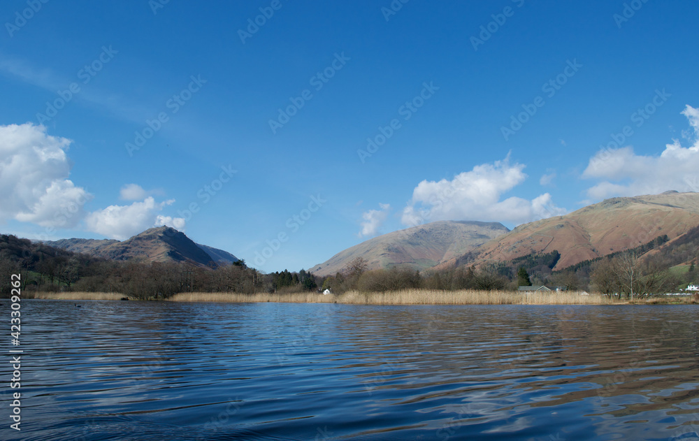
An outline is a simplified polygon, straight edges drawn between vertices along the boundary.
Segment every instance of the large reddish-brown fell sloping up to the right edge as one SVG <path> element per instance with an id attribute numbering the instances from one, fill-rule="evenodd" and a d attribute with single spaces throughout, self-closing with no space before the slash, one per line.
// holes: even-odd
<path id="1" fill-rule="evenodd" d="M 561 254 L 554 270 L 644 245 L 658 236 L 674 240 L 699 225 L 699 193 L 611 198 L 565 216 L 523 224 L 438 268 L 510 261 L 534 253 Z"/>

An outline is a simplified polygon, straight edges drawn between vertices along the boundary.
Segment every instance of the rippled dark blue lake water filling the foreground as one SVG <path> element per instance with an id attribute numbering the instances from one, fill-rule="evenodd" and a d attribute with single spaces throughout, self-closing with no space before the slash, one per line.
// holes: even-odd
<path id="1" fill-rule="evenodd" d="M 0 439 L 699 438 L 692 305 L 79 303 L 22 302 Z"/>

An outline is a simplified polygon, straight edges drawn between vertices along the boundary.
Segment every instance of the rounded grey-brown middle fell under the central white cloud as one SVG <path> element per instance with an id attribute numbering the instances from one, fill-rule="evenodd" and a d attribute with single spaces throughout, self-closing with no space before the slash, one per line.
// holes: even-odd
<path id="1" fill-rule="evenodd" d="M 400 265 L 424 270 L 466 254 L 508 231 L 497 222 L 432 222 L 366 240 L 310 268 L 310 272 L 334 275 L 356 257 L 366 259 L 368 269 Z"/>

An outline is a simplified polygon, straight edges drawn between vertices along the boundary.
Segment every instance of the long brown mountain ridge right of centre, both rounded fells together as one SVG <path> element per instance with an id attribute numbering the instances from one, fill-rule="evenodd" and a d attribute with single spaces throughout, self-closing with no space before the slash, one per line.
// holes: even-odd
<path id="1" fill-rule="evenodd" d="M 468 246 L 452 246 L 445 244 L 439 233 L 426 233 L 440 224 L 500 225 L 505 231 L 490 238 L 484 235 L 487 240 L 480 243 L 472 231 L 473 240 Z M 561 257 L 553 269 L 561 270 L 644 245 L 658 236 L 667 235 L 669 240 L 674 240 L 698 225 L 699 193 L 665 191 L 656 195 L 607 198 L 567 215 L 521 224 L 512 231 L 502 224 L 477 221 L 423 224 L 349 247 L 310 271 L 316 275 L 334 275 L 356 257 L 366 259 L 370 270 L 392 266 L 442 270 L 507 262 L 554 251 Z M 461 239 L 456 230 L 452 231 L 452 236 L 445 237 L 452 237 L 456 242 Z"/>

